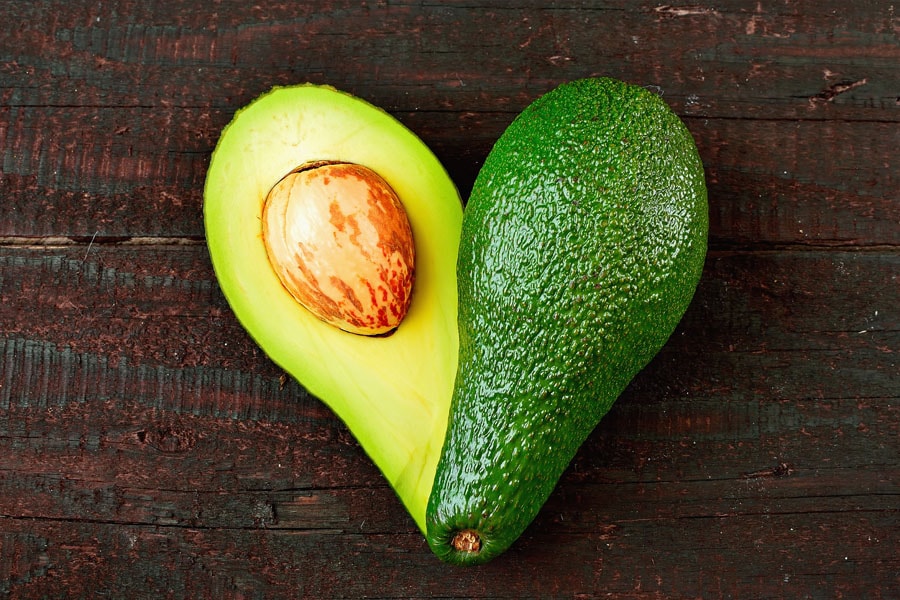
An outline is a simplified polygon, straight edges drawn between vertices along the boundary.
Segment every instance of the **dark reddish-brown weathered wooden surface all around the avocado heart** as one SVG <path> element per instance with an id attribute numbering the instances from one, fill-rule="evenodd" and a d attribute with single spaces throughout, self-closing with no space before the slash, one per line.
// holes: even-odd
<path id="1" fill-rule="evenodd" d="M 900 5 L 517 4 L 0 2 L 0 595 L 900 597 Z M 694 134 L 706 270 L 523 538 L 452 568 L 229 310 L 210 152 L 329 83 L 465 195 L 588 75 Z"/>

